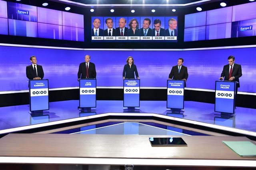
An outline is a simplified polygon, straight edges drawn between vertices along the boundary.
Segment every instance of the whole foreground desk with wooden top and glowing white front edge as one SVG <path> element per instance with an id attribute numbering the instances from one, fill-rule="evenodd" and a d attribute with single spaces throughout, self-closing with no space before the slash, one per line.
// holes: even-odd
<path id="1" fill-rule="evenodd" d="M 152 147 L 149 137 L 163 135 L 111 134 L 8 134 L 0 138 L 0 166 L 27 164 L 40 166 L 83 164 L 133 164 L 144 166 L 182 167 L 182 169 L 218 169 L 256 167 L 256 157 L 240 157 L 222 141 L 251 141 L 234 136 L 178 136 L 188 146 Z M 169 136 L 175 137 L 175 136 Z M 176 136 L 177 137 L 177 136 Z M 252 141 L 253 142 L 253 141 Z M 139 168 L 140 166 L 141 168 Z M 250 168 L 249 168 L 250 167 Z M 169 169 L 170 169 L 169 168 Z"/>

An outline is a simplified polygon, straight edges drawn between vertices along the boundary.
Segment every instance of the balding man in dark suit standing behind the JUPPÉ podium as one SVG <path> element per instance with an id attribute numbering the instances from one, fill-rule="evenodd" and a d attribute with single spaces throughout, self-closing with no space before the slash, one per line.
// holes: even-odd
<path id="1" fill-rule="evenodd" d="M 91 79 L 96 79 L 96 69 L 95 69 L 95 64 L 92 62 L 89 62 L 91 59 L 90 55 L 86 55 L 84 57 L 83 63 L 80 63 L 78 73 L 77 73 L 77 81 L 81 79 L 86 79 L 86 78 L 91 78 Z M 81 76 L 82 74 L 82 76 Z"/>

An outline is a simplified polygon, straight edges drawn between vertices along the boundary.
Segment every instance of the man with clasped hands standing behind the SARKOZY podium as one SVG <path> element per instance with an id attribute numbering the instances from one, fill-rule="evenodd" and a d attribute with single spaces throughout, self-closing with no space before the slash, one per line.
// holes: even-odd
<path id="1" fill-rule="evenodd" d="M 38 65 L 36 56 L 31 56 L 30 61 L 32 65 L 26 67 L 26 75 L 30 80 L 40 80 L 44 78 L 44 70 L 42 65 Z"/>

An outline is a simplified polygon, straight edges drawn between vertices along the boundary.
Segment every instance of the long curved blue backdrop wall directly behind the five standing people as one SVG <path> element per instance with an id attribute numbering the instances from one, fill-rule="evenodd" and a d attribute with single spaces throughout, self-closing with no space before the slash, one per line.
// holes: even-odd
<path id="1" fill-rule="evenodd" d="M 42 65 L 44 78 L 49 80 L 49 88 L 79 87 L 78 68 L 87 54 L 91 56 L 90 61 L 96 66 L 97 85 L 101 87 L 123 87 L 120 77 L 127 57 L 132 56 L 139 77 L 143 79 L 140 87 L 166 87 L 166 79 L 172 66 L 177 65 L 178 58 L 183 58 L 183 64 L 188 67 L 189 74 L 186 87 L 214 90 L 215 81 L 220 77 L 223 66 L 228 64 L 228 56 L 234 55 L 235 62 L 242 65 L 243 73 L 238 91 L 256 93 L 256 79 L 254 79 L 256 47 L 161 51 L 161 57 L 157 57 L 157 60 L 156 56 L 159 54 L 157 50 L 128 50 L 120 53 L 119 50 L 85 51 L 0 46 L 0 51 L 1 55 L 5 56 L 0 59 L 0 91 L 28 90 L 26 66 L 31 65 L 29 57 L 32 55 L 35 55 L 37 63 Z M 13 59 L 12 62 L 10 58 Z M 111 64 L 106 62 L 106 58 L 112 58 Z M 209 58 L 213 59 L 209 61 Z M 212 79 L 209 79 L 209 76 Z"/>

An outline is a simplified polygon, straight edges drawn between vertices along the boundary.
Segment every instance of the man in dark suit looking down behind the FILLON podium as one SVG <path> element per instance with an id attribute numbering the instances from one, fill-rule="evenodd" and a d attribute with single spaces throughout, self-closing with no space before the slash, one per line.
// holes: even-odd
<path id="1" fill-rule="evenodd" d="M 238 87 L 240 87 L 239 77 L 242 76 L 242 67 L 240 64 L 236 64 L 234 62 L 235 62 L 235 57 L 233 55 L 230 55 L 228 57 L 228 64 L 224 65 L 223 71 L 219 79 L 220 80 L 224 79 L 225 81 L 237 81 L 238 82 L 238 84 L 236 84 L 236 94 L 237 94 Z"/>

